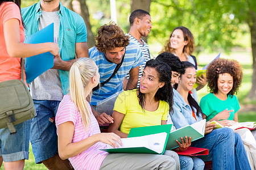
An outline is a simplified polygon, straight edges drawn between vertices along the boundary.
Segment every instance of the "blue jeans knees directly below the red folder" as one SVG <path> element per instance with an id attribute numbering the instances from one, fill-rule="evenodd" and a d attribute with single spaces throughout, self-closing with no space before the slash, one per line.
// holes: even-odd
<path id="1" fill-rule="evenodd" d="M 203 160 L 197 158 L 196 156 L 184 156 L 179 155 L 180 158 L 180 170 L 203 170 L 204 162 Z"/>

